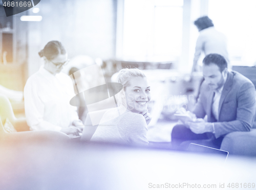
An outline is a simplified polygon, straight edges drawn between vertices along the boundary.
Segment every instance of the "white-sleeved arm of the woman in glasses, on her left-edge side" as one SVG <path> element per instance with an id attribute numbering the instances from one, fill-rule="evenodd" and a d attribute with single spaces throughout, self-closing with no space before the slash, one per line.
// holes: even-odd
<path id="1" fill-rule="evenodd" d="M 44 120 L 45 105 L 37 94 L 37 85 L 28 80 L 24 88 L 25 114 L 32 130 L 60 131 L 61 127 Z"/>

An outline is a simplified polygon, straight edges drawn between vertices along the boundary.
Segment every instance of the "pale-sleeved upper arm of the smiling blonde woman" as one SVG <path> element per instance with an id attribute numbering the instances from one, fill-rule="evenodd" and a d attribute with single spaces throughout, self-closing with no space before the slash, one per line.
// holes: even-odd
<path id="1" fill-rule="evenodd" d="M 141 114 L 136 114 L 130 120 L 127 131 L 125 131 L 126 140 L 134 145 L 147 146 L 147 127 L 145 118 Z"/>

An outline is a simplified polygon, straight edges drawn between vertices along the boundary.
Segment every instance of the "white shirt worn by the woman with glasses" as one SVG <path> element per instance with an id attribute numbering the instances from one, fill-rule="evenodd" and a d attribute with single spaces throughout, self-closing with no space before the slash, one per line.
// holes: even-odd
<path id="1" fill-rule="evenodd" d="M 51 74 L 44 67 L 27 80 L 24 88 L 27 123 L 33 130 L 60 131 L 78 119 L 71 78 L 65 73 Z"/>

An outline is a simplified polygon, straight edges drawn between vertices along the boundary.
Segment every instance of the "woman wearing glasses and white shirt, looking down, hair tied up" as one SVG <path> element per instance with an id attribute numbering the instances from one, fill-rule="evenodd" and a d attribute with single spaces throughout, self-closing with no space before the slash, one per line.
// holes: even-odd
<path id="1" fill-rule="evenodd" d="M 76 107 L 70 105 L 75 96 L 70 77 L 61 73 L 69 59 L 59 41 L 50 41 L 39 53 L 44 66 L 27 80 L 24 88 L 25 113 L 32 130 L 54 130 L 79 135 L 82 122 Z"/>

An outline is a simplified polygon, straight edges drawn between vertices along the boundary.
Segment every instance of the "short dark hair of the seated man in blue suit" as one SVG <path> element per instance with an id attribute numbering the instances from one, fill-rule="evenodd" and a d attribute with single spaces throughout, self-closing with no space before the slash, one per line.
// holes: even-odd
<path id="1" fill-rule="evenodd" d="M 217 53 L 211 53 L 207 55 L 203 60 L 204 65 L 216 64 L 222 72 L 227 68 L 227 61 L 225 58 Z"/>

